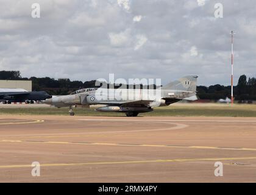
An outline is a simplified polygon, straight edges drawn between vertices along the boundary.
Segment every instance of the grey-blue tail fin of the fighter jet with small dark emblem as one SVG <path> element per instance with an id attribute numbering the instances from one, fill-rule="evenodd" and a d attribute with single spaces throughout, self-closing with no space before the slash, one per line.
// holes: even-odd
<path id="1" fill-rule="evenodd" d="M 197 76 L 185 76 L 162 87 L 162 90 L 181 90 L 196 92 Z"/>

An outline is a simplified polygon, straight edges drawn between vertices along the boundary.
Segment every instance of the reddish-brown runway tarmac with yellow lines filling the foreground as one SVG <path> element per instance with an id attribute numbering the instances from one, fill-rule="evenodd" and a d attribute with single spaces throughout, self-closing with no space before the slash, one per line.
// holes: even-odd
<path id="1" fill-rule="evenodd" d="M 256 182 L 256 119 L 1 116 L 0 182 Z"/>

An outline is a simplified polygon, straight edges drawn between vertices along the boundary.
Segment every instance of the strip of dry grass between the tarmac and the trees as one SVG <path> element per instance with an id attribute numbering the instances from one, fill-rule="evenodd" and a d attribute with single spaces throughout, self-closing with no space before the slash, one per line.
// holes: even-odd
<path id="1" fill-rule="evenodd" d="M 102 113 L 94 108 L 74 108 L 79 116 L 125 116 L 124 113 Z M 0 108 L 0 115 L 68 115 L 68 108 L 27 107 Z M 154 108 L 154 112 L 141 113 L 139 116 L 232 116 L 256 117 L 256 105 L 225 104 L 173 104 L 169 107 Z"/>

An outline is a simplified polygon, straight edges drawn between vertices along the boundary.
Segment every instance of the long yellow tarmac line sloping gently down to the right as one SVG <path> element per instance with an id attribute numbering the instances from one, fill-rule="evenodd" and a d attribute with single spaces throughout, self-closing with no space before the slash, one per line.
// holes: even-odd
<path id="1" fill-rule="evenodd" d="M 256 151 L 256 148 L 249 147 L 216 147 L 216 146 L 172 146 L 160 144 L 129 144 L 129 143 L 91 143 L 91 142 L 68 142 L 68 141 L 40 141 L 40 140 L 0 140 L 0 143 L 44 143 L 44 144 L 77 144 L 77 145 L 98 145 L 98 146 L 130 146 L 130 147 L 169 147 L 188 149 L 218 149 L 232 151 Z"/>

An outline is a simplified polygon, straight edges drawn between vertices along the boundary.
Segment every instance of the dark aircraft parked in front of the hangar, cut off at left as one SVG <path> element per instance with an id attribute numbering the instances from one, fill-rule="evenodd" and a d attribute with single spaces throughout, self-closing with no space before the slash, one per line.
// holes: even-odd
<path id="1" fill-rule="evenodd" d="M 24 89 L 0 88 L 0 102 L 10 104 L 12 102 L 26 102 L 33 104 L 34 101 L 43 101 L 52 98 L 45 91 L 26 91 Z"/>

